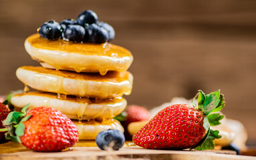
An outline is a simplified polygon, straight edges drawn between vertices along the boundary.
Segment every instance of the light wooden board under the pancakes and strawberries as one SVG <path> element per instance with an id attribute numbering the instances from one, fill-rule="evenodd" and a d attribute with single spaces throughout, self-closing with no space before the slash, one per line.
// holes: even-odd
<path id="1" fill-rule="evenodd" d="M 80 141 L 74 147 L 56 153 L 39 153 L 29 151 L 19 143 L 0 145 L 0 159 L 256 159 L 256 157 L 234 155 L 234 151 L 166 151 L 136 147 L 133 143 L 125 143 L 119 151 L 101 151 L 94 141 Z"/>

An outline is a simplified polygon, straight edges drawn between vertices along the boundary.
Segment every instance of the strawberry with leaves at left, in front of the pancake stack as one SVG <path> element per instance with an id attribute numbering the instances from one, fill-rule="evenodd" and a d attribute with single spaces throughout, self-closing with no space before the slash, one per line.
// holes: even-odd
<path id="1" fill-rule="evenodd" d="M 50 107 L 37 107 L 25 115 L 11 112 L 3 121 L 5 137 L 34 151 L 61 151 L 78 141 L 78 128 L 66 115 Z"/>

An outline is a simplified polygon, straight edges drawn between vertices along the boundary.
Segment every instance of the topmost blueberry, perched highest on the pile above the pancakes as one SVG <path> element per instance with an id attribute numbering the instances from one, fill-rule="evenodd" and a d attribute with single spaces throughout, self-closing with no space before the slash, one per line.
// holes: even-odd
<path id="1" fill-rule="evenodd" d="M 94 11 L 86 10 L 82 11 L 80 15 L 77 17 L 77 22 L 79 25 L 86 26 L 86 23 L 89 25 L 92 23 L 97 23 L 98 21 L 98 16 Z"/>

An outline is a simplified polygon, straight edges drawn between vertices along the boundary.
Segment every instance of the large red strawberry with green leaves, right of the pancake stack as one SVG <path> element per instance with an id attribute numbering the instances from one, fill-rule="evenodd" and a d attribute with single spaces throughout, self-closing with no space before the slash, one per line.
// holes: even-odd
<path id="1" fill-rule="evenodd" d="M 214 113 L 224 107 L 224 97 L 220 91 L 208 95 L 199 91 L 196 97 L 193 107 L 177 104 L 159 111 L 133 135 L 133 142 L 147 149 L 214 149 L 213 140 L 221 136 L 210 126 L 219 125 L 224 117 Z"/>

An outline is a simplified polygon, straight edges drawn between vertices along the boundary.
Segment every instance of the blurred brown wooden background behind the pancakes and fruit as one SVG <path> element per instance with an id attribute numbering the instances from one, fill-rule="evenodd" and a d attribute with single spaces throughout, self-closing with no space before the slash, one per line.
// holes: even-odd
<path id="1" fill-rule="evenodd" d="M 49 19 L 76 18 L 85 9 L 113 25 L 113 43 L 133 53 L 129 104 L 151 108 L 221 89 L 223 112 L 243 122 L 248 144 L 256 145 L 255 0 L 0 0 L 0 95 L 23 87 L 17 67 L 38 65 L 25 38 Z"/>

